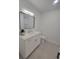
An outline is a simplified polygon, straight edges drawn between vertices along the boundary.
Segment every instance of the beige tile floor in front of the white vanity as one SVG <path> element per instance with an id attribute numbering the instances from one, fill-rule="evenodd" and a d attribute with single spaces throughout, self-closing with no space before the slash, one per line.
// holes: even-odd
<path id="1" fill-rule="evenodd" d="M 57 59 L 58 48 L 59 47 L 53 43 L 43 41 L 27 59 Z M 20 59 L 23 58 L 20 56 Z"/>

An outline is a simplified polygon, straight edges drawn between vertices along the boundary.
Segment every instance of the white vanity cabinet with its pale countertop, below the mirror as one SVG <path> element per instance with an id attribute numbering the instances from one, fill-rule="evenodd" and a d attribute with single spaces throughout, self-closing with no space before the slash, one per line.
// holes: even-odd
<path id="1" fill-rule="evenodd" d="M 27 58 L 32 51 L 40 44 L 40 32 L 25 33 L 20 35 L 19 51 L 23 58 Z"/>

